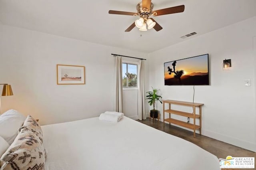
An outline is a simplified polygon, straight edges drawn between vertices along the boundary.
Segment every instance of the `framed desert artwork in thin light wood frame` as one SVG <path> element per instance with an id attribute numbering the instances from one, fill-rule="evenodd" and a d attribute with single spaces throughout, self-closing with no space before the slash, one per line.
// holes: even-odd
<path id="1" fill-rule="evenodd" d="M 57 64 L 57 85 L 85 84 L 85 67 Z"/>

